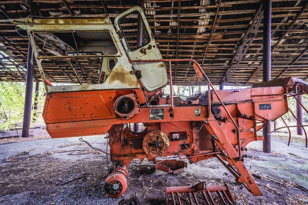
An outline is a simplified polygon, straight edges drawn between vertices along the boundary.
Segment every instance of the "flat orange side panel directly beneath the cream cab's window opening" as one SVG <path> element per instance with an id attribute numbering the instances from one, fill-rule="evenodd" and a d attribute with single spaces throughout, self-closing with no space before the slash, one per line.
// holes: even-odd
<path id="1" fill-rule="evenodd" d="M 46 124 L 115 118 L 114 99 L 137 90 L 103 90 L 47 94 L 43 118 Z M 142 94 L 142 93 L 141 93 Z"/>

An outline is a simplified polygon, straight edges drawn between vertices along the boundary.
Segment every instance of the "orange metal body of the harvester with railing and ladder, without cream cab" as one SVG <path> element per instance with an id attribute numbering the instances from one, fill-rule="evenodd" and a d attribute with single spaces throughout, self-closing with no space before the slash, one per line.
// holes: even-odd
<path id="1" fill-rule="evenodd" d="M 207 99 L 202 98 L 201 95 L 187 100 L 174 97 L 171 63 L 175 61 L 193 63 L 199 81 L 207 82 Z M 111 160 L 118 166 L 115 167 L 115 171 L 118 170 L 118 172 L 113 174 L 117 175 L 118 182 L 112 182 L 114 180 L 108 177 L 108 180 L 111 180 L 108 181 L 109 184 L 119 183 L 120 185 L 121 182 L 122 186 L 123 183 L 127 183 L 125 178 L 127 176 L 119 173 L 120 166 L 127 167 L 135 158 L 156 161 L 160 156 L 168 158 L 176 155 L 180 159 L 187 158 L 190 162 L 197 162 L 217 157 L 233 173 L 238 182 L 244 183 L 254 195 L 262 195 L 256 182 L 243 165 L 242 152 L 249 142 L 263 139 L 262 136 L 257 136 L 257 131 L 265 125 L 265 119 L 275 120 L 287 112 L 285 94 L 288 92 L 287 88 L 292 87 L 293 84 L 286 83 L 288 87 L 249 88 L 239 91 L 241 94 L 232 90 L 216 91 L 195 60 L 130 60 L 130 63 L 143 62 L 169 63 L 171 99 L 157 94 L 158 92 L 147 93 L 142 89 L 49 93 L 43 115 L 48 133 L 56 138 L 108 132 Z M 151 97 L 150 100 L 157 100 L 158 105 L 149 105 L 145 97 L 148 95 Z M 117 109 L 114 105 L 120 105 L 117 102 L 124 97 L 133 101 L 131 115 L 114 111 Z M 142 104 L 146 106 L 140 107 Z M 261 109 L 262 104 L 270 104 L 273 109 L 271 111 Z M 152 118 L 152 109 L 159 109 L 163 114 L 160 117 L 154 114 L 155 117 Z M 197 113 L 199 112 L 197 115 L 196 110 Z M 125 124 L 141 122 L 146 127 L 146 130 L 141 133 L 124 127 Z M 183 133 L 183 131 L 186 132 L 185 137 L 180 140 L 171 140 L 170 133 Z M 158 136 L 159 133 L 164 140 L 151 139 L 145 143 L 147 135 Z M 148 145 L 150 146 L 148 150 L 153 150 L 152 152 L 146 151 L 145 146 Z M 153 145 L 156 146 L 154 149 L 151 147 Z M 123 189 L 125 187 L 127 185 L 123 184 Z M 110 192 L 110 186 L 107 190 Z M 115 192 L 108 195 L 118 196 L 119 194 L 120 192 Z"/>

